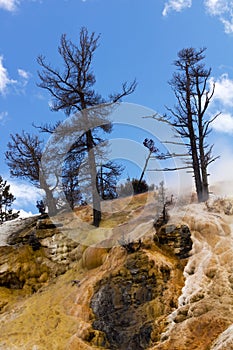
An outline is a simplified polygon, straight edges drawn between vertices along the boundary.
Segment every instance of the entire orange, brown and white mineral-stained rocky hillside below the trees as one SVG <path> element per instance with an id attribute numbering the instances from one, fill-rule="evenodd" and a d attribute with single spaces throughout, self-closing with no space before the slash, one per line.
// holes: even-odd
<path id="1" fill-rule="evenodd" d="M 0 349 L 233 349 L 232 201 L 175 208 L 155 232 L 150 203 L 137 223 L 142 198 L 103 221 L 102 246 L 72 239 L 65 214 L 18 225 L 0 248 Z M 132 231 L 135 250 L 111 247 Z"/>

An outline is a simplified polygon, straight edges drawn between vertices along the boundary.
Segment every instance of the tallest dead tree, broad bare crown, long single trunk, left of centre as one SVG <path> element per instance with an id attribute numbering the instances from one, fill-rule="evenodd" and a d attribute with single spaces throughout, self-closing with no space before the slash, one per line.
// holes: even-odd
<path id="1" fill-rule="evenodd" d="M 38 63 L 42 68 L 42 71 L 39 72 L 40 83 L 38 86 L 46 89 L 52 96 L 51 108 L 53 111 L 64 111 L 66 115 L 70 115 L 71 113 L 81 112 L 106 102 L 115 103 L 124 96 L 134 92 L 136 88 L 135 81 L 129 85 L 124 83 L 122 91 L 110 95 L 108 100 L 105 100 L 95 91 L 96 78 L 92 70 L 92 61 L 98 47 L 98 41 L 99 36 L 96 36 L 94 32 L 89 34 L 86 28 L 81 28 L 77 45 L 68 40 L 66 35 L 63 34 L 58 48 L 64 63 L 62 72 L 47 64 L 43 56 L 38 57 Z M 98 129 L 110 132 L 111 124 L 109 120 L 106 119 L 106 123 L 96 127 L 95 131 Z M 84 138 L 90 167 L 93 224 L 99 226 L 101 221 L 101 203 L 96 186 L 97 164 L 93 132 L 94 130 L 92 129 L 86 130 Z"/>

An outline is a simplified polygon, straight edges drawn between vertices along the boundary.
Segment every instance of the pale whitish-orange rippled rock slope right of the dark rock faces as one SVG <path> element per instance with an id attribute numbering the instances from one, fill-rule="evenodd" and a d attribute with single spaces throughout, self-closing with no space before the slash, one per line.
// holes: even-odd
<path id="1" fill-rule="evenodd" d="M 185 286 L 178 308 L 169 316 L 167 332 L 153 349 L 233 348 L 223 333 L 233 322 L 233 220 L 224 214 L 225 204 L 214 203 L 211 212 L 204 205 L 192 205 L 185 213 L 183 222 L 193 240 Z"/>

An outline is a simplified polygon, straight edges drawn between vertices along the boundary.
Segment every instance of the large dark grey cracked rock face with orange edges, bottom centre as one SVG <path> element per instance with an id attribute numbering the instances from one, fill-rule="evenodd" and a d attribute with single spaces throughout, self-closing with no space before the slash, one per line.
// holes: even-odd
<path id="1" fill-rule="evenodd" d="M 155 265 L 144 252 L 127 256 L 124 266 L 99 281 L 91 300 L 93 328 L 104 333 L 102 346 L 118 350 L 149 347 L 154 320 L 164 314 L 169 266 Z M 171 298 L 172 299 L 172 298 Z M 170 300 L 172 305 L 172 300 Z"/>

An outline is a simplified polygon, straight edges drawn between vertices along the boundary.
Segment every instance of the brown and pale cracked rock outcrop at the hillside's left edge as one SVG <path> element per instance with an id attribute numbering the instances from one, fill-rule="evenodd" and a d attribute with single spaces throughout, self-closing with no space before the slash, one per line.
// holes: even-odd
<path id="1" fill-rule="evenodd" d="M 0 287 L 35 292 L 77 260 L 78 243 L 51 228 L 49 219 L 39 222 L 38 228 L 37 217 L 19 220 L 9 245 L 0 246 Z"/>

